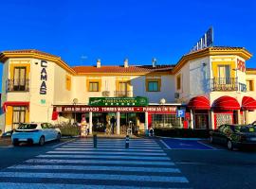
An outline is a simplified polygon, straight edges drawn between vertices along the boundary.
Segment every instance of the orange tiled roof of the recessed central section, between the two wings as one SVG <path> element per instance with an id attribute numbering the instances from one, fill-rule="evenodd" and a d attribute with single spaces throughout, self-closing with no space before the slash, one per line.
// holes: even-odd
<path id="1" fill-rule="evenodd" d="M 168 72 L 174 68 L 174 65 L 157 65 L 153 67 L 152 65 L 141 65 L 135 66 L 130 65 L 129 67 L 123 66 L 75 66 L 72 67 L 78 74 L 88 74 L 88 73 L 151 73 L 151 72 Z"/>

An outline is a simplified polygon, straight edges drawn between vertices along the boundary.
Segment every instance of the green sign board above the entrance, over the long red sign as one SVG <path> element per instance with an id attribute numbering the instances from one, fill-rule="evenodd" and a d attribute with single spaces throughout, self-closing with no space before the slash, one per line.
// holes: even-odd
<path id="1" fill-rule="evenodd" d="M 148 106 L 146 97 L 90 97 L 89 106 Z"/>

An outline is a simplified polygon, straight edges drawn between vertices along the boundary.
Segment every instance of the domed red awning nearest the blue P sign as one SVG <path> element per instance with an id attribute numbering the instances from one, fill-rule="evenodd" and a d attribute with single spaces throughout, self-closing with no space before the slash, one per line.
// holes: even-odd
<path id="1" fill-rule="evenodd" d="M 190 100 L 188 107 L 192 110 L 210 110 L 210 101 L 205 96 L 196 96 Z"/>

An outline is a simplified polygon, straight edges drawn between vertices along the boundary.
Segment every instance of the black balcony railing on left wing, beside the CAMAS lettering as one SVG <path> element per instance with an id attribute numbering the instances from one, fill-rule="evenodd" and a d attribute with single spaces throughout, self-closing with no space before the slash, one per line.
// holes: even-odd
<path id="1" fill-rule="evenodd" d="M 28 92 L 29 79 L 8 79 L 7 92 Z"/>

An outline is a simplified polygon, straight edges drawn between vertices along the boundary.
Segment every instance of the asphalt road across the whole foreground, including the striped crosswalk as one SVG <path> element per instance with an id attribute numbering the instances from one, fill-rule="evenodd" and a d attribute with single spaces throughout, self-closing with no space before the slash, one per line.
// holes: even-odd
<path id="1" fill-rule="evenodd" d="M 90 173 L 89 176 L 80 175 L 81 177 L 85 177 L 82 185 L 84 188 L 115 188 L 117 185 L 120 185 L 122 189 L 145 187 L 198 189 L 256 188 L 256 151 L 229 151 L 225 147 L 211 146 L 208 142 L 204 142 L 209 146 L 206 147 L 206 149 L 204 149 L 204 147 L 199 147 L 199 149 L 196 149 L 196 147 L 194 149 L 168 149 L 167 146 L 158 139 L 155 139 L 155 142 L 154 140 L 140 141 L 139 139 L 135 139 L 131 141 L 131 144 L 134 143 L 137 148 L 135 148 L 133 152 L 128 151 L 128 153 L 125 152 L 123 141 L 119 141 L 118 139 L 102 141 L 102 144 L 108 147 L 99 148 L 97 151 L 89 149 L 92 147 L 91 142 L 87 144 L 86 141 L 70 141 L 70 139 L 64 139 L 59 143 L 47 143 L 46 146 L 43 147 L 0 146 L 0 188 L 3 186 L 1 182 L 8 180 L 1 178 L 1 174 L 7 174 L 5 177 L 7 177 L 8 174 L 17 174 L 14 179 L 8 180 L 9 182 L 14 181 L 12 183 L 14 185 L 9 183 L 8 186 L 10 188 L 16 187 L 22 189 L 22 185 L 17 185 L 17 183 L 24 181 L 25 184 L 31 181 L 33 185 L 29 186 L 32 188 L 38 188 L 40 185 L 35 184 L 42 184 L 42 182 L 46 183 L 46 185 L 42 185 L 42 187 L 48 186 L 49 188 L 54 188 L 56 185 L 49 184 L 58 183 L 56 187 L 62 188 L 62 186 L 66 186 L 62 185 L 65 184 L 65 181 L 71 183 L 74 188 L 80 188 L 83 183 L 81 180 L 68 178 L 74 177 L 74 174 L 78 173 Z M 185 148 L 186 146 L 190 146 L 190 142 L 184 142 L 182 144 Z M 174 145 L 177 146 L 177 144 Z M 158 148 L 159 146 L 160 148 Z M 89 148 L 85 149 L 86 147 Z M 130 149 L 132 148 L 133 146 L 130 146 Z M 89 151 L 82 152 L 81 154 L 81 152 L 79 152 L 81 150 Z M 124 154 L 123 151 L 125 152 Z M 109 154 L 110 152 L 111 154 Z M 163 152 L 165 153 L 162 155 Z M 100 154 L 98 155 L 98 153 Z M 165 157 L 169 157 L 170 160 L 166 160 Z M 138 160 L 138 158 L 144 160 Z M 40 162 L 42 160 L 46 162 Z M 50 161 L 53 162 L 50 163 Z M 171 164 L 164 165 L 161 163 Z M 13 165 L 21 166 L 21 169 L 18 167 L 7 168 Z M 66 169 L 66 165 L 70 165 L 70 170 L 61 170 L 58 168 Z M 25 168 L 23 166 L 25 166 Z M 49 170 L 49 168 L 52 168 L 52 170 Z M 165 172 L 161 172 L 161 170 Z M 30 172 L 31 177 L 35 178 L 33 180 L 26 180 L 26 178 L 23 177 L 28 177 L 28 175 L 22 175 L 23 172 L 26 172 L 26 175 Z M 67 178 L 54 180 L 55 175 L 50 174 L 59 174 L 58 177 Z M 111 180 L 110 176 L 113 174 L 113 180 Z M 91 178 L 92 176 L 94 178 Z M 137 176 L 141 177 L 141 180 L 137 180 Z M 40 179 L 40 177 L 43 178 Z M 45 177 L 51 178 L 46 179 Z M 86 177 L 90 179 L 88 180 Z M 116 180 L 116 177 L 119 179 Z M 109 178 L 110 180 L 108 180 Z M 108 187 L 105 187 L 105 185 Z M 27 186 L 28 185 L 25 185 L 25 188 L 27 188 Z M 69 185 L 69 187 L 71 186 Z"/>

